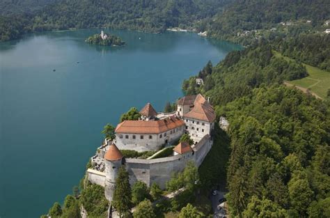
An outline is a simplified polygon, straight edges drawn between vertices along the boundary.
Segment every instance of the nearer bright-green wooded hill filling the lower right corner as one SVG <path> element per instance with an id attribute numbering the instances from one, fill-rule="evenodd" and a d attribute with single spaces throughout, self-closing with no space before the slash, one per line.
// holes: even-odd
<path id="1" fill-rule="evenodd" d="M 233 215 L 329 217 L 330 116 L 324 102 L 293 88 L 262 86 L 218 113 L 230 122 Z"/>

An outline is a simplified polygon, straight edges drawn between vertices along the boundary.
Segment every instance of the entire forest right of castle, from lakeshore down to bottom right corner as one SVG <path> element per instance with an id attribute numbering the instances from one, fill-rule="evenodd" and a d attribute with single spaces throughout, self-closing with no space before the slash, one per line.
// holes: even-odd
<path id="1" fill-rule="evenodd" d="M 274 56 L 272 45 L 260 42 L 215 67 L 207 63 L 198 73 L 203 86 L 196 86 L 197 76 L 182 84 L 187 94 L 210 97 L 217 117 L 229 120 L 230 156 L 216 133 L 200 174 L 204 187 L 221 184 L 223 175 L 214 172 L 223 172 L 222 159 L 229 158 L 231 215 L 329 217 L 330 96 L 316 100 L 282 85 L 305 75 L 303 65 Z"/>

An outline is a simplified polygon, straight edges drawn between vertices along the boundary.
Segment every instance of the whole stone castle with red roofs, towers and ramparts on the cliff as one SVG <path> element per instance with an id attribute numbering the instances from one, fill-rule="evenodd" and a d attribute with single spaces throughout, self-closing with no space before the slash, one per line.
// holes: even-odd
<path id="1" fill-rule="evenodd" d="M 87 179 L 102 185 L 105 196 L 111 202 L 115 180 L 120 166 L 129 173 L 129 183 L 137 180 L 150 186 L 156 182 L 162 189 L 171 175 L 184 169 L 187 162 L 200 166 L 212 147 L 211 132 L 214 129 L 215 113 L 212 105 L 203 95 L 189 95 L 177 102 L 177 110 L 172 113 L 157 113 L 150 103 L 141 109 L 139 120 L 125 120 L 116 127 L 116 138 L 104 140 L 91 157 L 93 169 L 86 172 Z M 182 134 L 189 134 L 194 140 L 178 143 L 169 157 L 154 158 L 162 148 L 178 141 Z M 120 150 L 139 152 L 159 150 L 147 159 L 125 158 Z"/>

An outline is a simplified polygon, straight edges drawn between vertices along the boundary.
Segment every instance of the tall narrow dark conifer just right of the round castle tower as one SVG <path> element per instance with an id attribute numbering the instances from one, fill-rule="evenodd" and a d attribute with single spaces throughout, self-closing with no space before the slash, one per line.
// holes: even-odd
<path id="1" fill-rule="evenodd" d="M 128 172 L 125 166 L 121 166 L 118 170 L 118 177 L 116 178 L 116 189 L 113 193 L 113 206 L 118 210 L 119 216 L 130 213 L 132 207 L 132 191 L 129 185 Z"/>

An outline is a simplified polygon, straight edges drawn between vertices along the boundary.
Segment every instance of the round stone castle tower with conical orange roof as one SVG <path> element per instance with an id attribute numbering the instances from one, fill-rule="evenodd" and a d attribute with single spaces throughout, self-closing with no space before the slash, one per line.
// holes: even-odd
<path id="1" fill-rule="evenodd" d="M 113 143 L 104 155 L 105 164 L 105 197 L 111 203 L 115 191 L 118 169 L 122 166 L 123 154 Z"/>

